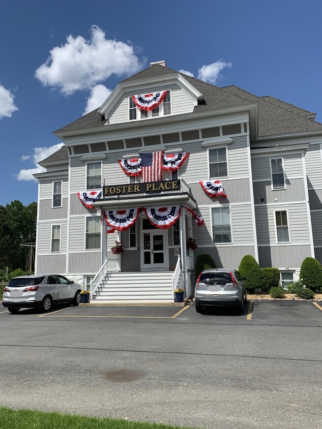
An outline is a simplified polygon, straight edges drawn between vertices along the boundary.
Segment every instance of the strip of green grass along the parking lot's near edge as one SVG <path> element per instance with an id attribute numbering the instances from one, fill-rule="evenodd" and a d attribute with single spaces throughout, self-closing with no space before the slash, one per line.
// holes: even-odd
<path id="1" fill-rule="evenodd" d="M 0 422 L 6 429 L 183 429 L 183 426 L 168 426 L 161 423 L 12 410 L 4 407 L 0 408 Z"/>

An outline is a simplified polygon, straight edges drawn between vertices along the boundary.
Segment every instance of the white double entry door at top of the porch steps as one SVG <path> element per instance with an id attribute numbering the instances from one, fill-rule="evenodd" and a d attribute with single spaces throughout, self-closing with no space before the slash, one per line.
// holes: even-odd
<path id="1" fill-rule="evenodd" d="M 168 263 L 168 231 L 154 229 L 142 231 L 141 267 L 142 269 L 166 269 Z"/>

